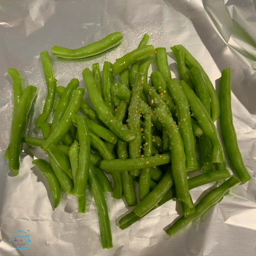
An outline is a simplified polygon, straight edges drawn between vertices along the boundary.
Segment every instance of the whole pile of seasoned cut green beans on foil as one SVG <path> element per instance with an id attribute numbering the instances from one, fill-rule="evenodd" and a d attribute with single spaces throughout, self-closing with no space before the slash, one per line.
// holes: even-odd
<path id="1" fill-rule="evenodd" d="M 123 35 L 115 32 L 76 50 L 53 46 L 52 54 L 84 58 L 104 52 L 122 39 Z M 219 101 L 208 75 L 184 46 L 170 47 L 182 79 L 178 81 L 172 78 L 166 48 L 155 49 L 148 41 L 145 34 L 133 51 L 113 64 L 101 63 L 102 74 L 100 63 L 94 63 L 92 71 L 84 68 L 81 86 L 86 87 L 93 107 L 83 100 L 85 89 L 78 88 L 78 79 L 73 78 L 67 87 L 57 87 L 50 56 L 41 52 L 48 94 L 35 125 L 44 139 L 25 135 L 26 128 L 31 128 L 27 119 L 33 115 L 29 112 L 37 88 L 24 89 L 19 72 L 7 70 L 14 95 L 10 142 L 4 155 L 9 169 L 19 172 L 26 143 L 48 156 L 48 161 L 35 158 L 32 163 L 49 184 L 53 208 L 59 205 L 61 194 L 68 193 L 76 196 L 78 212 L 85 213 L 86 191 L 90 189 L 98 210 L 102 248 L 113 247 L 106 192 L 115 199 L 124 196 L 124 203 L 133 207 L 119 220 L 120 229 L 173 198 L 180 200 L 183 216 L 166 230 L 173 236 L 217 204 L 230 188 L 251 178 L 232 121 L 230 69 L 222 71 Z M 149 81 L 153 58 L 158 70 L 151 73 Z M 219 116 L 230 168 L 237 178 L 226 169 L 214 124 Z M 188 179 L 187 172 L 196 169 L 202 174 Z M 189 190 L 218 181 L 222 184 L 194 206 Z"/>

